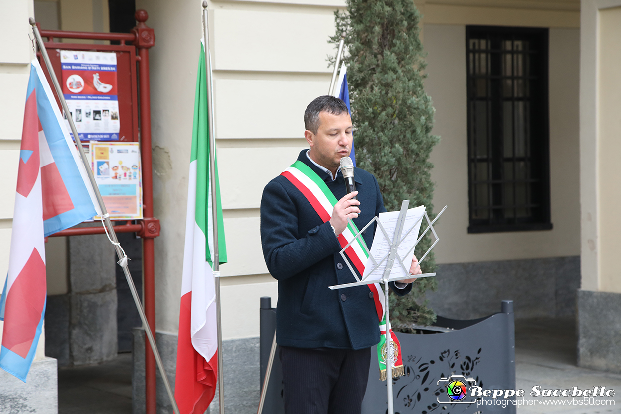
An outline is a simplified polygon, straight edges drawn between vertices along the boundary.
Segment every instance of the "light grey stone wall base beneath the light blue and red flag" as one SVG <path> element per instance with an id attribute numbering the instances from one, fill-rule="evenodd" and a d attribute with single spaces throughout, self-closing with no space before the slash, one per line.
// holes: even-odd
<path id="1" fill-rule="evenodd" d="M 58 414 L 56 360 L 32 362 L 25 383 L 0 369 L 0 413 Z"/>

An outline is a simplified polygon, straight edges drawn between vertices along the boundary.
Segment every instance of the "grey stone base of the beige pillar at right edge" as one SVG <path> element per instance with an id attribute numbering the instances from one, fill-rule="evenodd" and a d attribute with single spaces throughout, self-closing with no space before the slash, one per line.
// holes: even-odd
<path id="1" fill-rule="evenodd" d="M 621 293 L 578 290 L 578 366 L 621 374 Z"/>

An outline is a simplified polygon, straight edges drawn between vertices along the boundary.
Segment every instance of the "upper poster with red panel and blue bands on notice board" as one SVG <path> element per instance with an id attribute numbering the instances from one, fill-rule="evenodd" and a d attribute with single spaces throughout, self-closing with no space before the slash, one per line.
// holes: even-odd
<path id="1" fill-rule="evenodd" d="M 63 95 L 80 139 L 118 140 L 116 53 L 61 50 L 60 65 Z"/>

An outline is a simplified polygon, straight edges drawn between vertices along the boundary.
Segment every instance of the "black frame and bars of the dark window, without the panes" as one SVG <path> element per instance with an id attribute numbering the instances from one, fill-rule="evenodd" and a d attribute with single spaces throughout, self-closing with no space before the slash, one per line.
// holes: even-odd
<path id="1" fill-rule="evenodd" d="M 472 49 L 471 39 L 486 39 L 486 47 L 489 49 Z M 534 50 L 522 50 L 515 52 L 515 44 L 512 43 L 512 52 L 502 49 L 502 42 L 509 40 L 528 40 L 529 45 L 536 44 Z M 549 230 L 553 228 L 551 223 L 550 212 L 550 106 L 549 106 L 549 30 L 546 28 L 533 27 L 507 27 L 507 26 L 482 26 L 467 25 L 466 26 L 466 79 L 467 79 L 467 98 L 466 104 L 468 108 L 468 209 L 469 209 L 469 233 L 482 232 L 503 232 L 503 231 L 530 231 L 530 230 Z M 471 53 L 484 52 L 487 54 L 486 65 L 489 65 L 487 75 L 476 75 L 471 73 Z M 502 56 L 511 55 L 512 72 L 510 76 L 502 74 Z M 535 75 L 528 76 L 515 75 L 515 55 L 521 54 L 524 62 L 524 53 L 528 53 L 528 65 L 532 68 Z M 533 60 L 532 56 L 537 53 L 537 57 Z M 533 65 L 533 63 L 536 63 Z M 525 63 L 526 65 L 526 63 Z M 484 180 L 478 180 L 476 177 L 479 167 L 480 155 L 476 149 L 476 131 L 474 130 L 476 122 L 474 121 L 473 106 L 478 98 L 475 83 L 477 78 L 485 79 L 486 97 L 486 158 L 487 177 Z M 511 115 L 512 124 L 510 125 L 512 134 L 512 155 L 507 157 L 504 150 L 504 131 L 503 109 L 504 102 L 507 97 L 503 96 L 502 81 L 511 79 L 509 101 L 512 102 Z M 516 138 L 515 138 L 515 108 L 514 102 L 520 98 L 515 96 L 515 85 L 517 81 L 522 79 L 524 91 L 528 91 L 530 96 L 524 96 L 522 108 L 530 109 L 525 111 L 528 117 L 528 132 L 524 139 L 526 149 L 522 157 L 517 157 Z M 528 86 L 526 86 L 528 84 Z M 480 84 L 479 84 L 480 85 Z M 526 89 L 530 88 L 530 89 Z M 524 93 L 526 94 L 526 93 Z M 489 101 L 489 104 L 487 104 Z M 474 103 L 474 104 L 473 104 Z M 528 104 L 528 106 L 527 106 Z M 512 159 L 512 179 L 505 179 L 505 162 Z M 518 159 L 522 159 L 518 161 Z M 516 163 L 525 165 L 524 179 L 518 179 L 516 175 Z M 509 175 L 509 174 L 507 174 Z M 483 184 L 483 186 L 481 186 Z M 487 187 L 484 187 L 487 185 Z M 510 187 L 509 187 L 510 185 Z M 524 197 L 525 203 L 519 205 L 515 188 L 518 185 L 527 186 Z M 486 188 L 487 205 L 479 205 L 477 193 L 479 188 Z M 505 203 L 508 191 L 506 188 L 512 188 L 512 204 Z M 507 191 L 507 195 L 505 195 Z M 528 200 L 530 198 L 530 201 Z M 503 200 L 504 199 L 504 200 Z M 536 203 L 533 201 L 535 200 Z M 475 211 L 487 209 L 487 218 L 475 216 Z M 510 217 L 510 210 L 513 210 L 513 216 Z M 518 211 L 530 211 L 530 216 L 519 217 Z"/>

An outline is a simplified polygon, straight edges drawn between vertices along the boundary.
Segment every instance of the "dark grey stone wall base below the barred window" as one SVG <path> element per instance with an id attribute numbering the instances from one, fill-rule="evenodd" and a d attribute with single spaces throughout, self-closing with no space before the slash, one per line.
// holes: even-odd
<path id="1" fill-rule="evenodd" d="M 580 257 L 441 264 L 438 290 L 427 292 L 430 307 L 453 319 L 474 319 L 514 301 L 515 318 L 558 318 L 576 313 Z"/>

